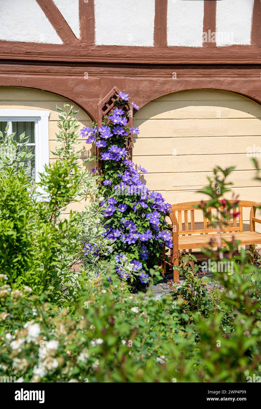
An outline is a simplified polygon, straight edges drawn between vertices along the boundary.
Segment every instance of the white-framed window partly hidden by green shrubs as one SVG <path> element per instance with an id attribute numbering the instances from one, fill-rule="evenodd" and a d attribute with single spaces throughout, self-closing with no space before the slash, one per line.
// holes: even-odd
<path id="1" fill-rule="evenodd" d="M 29 137 L 28 149 L 33 149 L 34 157 L 30 160 L 31 174 L 39 181 L 39 172 L 44 171 L 44 165 L 49 163 L 49 131 L 48 120 L 50 111 L 33 109 L 0 109 L 0 131 L 4 133 L 9 124 L 8 134 L 16 132 L 19 140 L 25 132 Z"/>

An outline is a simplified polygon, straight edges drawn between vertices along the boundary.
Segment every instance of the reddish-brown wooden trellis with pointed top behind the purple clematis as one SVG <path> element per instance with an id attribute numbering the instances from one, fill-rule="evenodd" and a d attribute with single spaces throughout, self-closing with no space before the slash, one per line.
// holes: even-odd
<path id="1" fill-rule="evenodd" d="M 133 109 L 133 104 L 130 101 L 122 101 L 117 94 L 119 94 L 120 90 L 116 86 L 112 88 L 112 90 L 102 99 L 102 101 L 98 105 L 98 126 L 101 127 L 103 117 L 106 115 L 112 114 L 115 108 L 121 108 L 124 110 L 124 117 L 126 117 L 128 123 L 126 126 L 133 126 L 133 114 L 137 112 L 137 110 Z M 119 103 L 119 101 L 124 102 L 124 104 Z M 132 159 L 132 146 L 133 146 L 133 135 L 130 134 L 127 143 L 125 144 L 128 150 L 128 154 L 130 155 L 130 159 Z M 99 148 L 96 148 L 96 157 L 99 157 Z M 99 161 L 96 163 L 97 170 L 99 171 Z"/>

